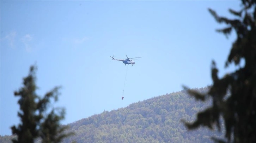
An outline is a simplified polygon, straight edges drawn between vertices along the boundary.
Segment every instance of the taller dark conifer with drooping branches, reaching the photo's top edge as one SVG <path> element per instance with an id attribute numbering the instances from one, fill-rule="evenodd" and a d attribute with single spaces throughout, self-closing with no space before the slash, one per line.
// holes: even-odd
<path id="1" fill-rule="evenodd" d="M 205 101 L 207 97 L 212 98 L 212 107 L 197 113 L 197 120 L 193 123 L 185 122 L 188 129 L 196 129 L 200 125 L 213 129 L 216 124 L 220 129 L 220 116 L 225 123 L 225 140 L 233 143 L 255 143 L 256 142 L 256 1 L 242 0 L 242 9 L 229 12 L 236 19 L 220 17 L 215 11 L 209 9 L 215 20 L 226 23 L 227 28 L 218 29 L 217 32 L 228 36 L 232 29 L 237 34 L 226 66 L 232 62 L 239 66 L 240 60 L 244 59 L 244 67 L 226 74 L 223 78 L 218 77 L 218 69 L 212 62 L 213 85 L 207 94 L 201 94 L 188 90 L 190 95 L 197 100 Z M 186 88 L 186 87 L 184 87 Z M 187 88 L 186 88 L 187 89 Z M 213 138 L 218 142 L 224 139 Z"/>

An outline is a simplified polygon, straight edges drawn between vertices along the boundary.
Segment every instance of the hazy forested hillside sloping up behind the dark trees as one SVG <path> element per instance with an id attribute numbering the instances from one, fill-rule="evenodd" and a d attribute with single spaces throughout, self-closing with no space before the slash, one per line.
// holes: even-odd
<path id="1" fill-rule="evenodd" d="M 206 92 L 206 88 L 196 89 Z M 207 128 L 188 131 L 181 119 L 194 121 L 196 113 L 211 102 L 197 102 L 184 90 L 130 104 L 126 108 L 104 111 L 83 118 L 69 126 L 75 136 L 66 138 L 78 143 L 209 143 L 217 130 Z M 9 139 L 7 139 L 9 138 Z M 5 140 L 5 141 L 4 141 Z M 10 136 L 1 137 L 1 143 Z"/>

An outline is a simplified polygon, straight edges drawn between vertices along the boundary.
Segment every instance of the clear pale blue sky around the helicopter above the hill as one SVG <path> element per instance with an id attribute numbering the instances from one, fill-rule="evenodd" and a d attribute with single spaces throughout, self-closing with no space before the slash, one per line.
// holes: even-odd
<path id="1" fill-rule="evenodd" d="M 208 8 L 230 16 L 240 1 L 0 1 L 0 134 L 19 123 L 13 92 L 36 63 L 37 93 L 62 86 L 51 107 L 63 124 L 131 103 L 212 83 L 236 35 L 215 32 Z M 142 57 L 127 70 L 116 58 Z"/>

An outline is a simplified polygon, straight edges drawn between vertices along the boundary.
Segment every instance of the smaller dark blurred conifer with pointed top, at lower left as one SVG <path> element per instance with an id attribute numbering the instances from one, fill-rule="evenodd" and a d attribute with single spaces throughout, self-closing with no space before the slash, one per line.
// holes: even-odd
<path id="1" fill-rule="evenodd" d="M 33 143 L 36 138 L 41 137 L 44 143 L 61 142 L 63 138 L 73 134 L 65 132 L 68 126 L 60 125 L 60 121 L 65 117 L 65 109 L 62 108 L 57 114 L 56 109 L 53 108 L 47 114 L 48 104 L 51 98 L 57 101 L 60 87 L 55 87 L 41 98 L 36 94 L 35 71 L 36 66 L 31 66 L 29 75 L 23 79 L 24 86 L 14 92 L 15 96 L 20 96 L 18 116 L 22 123 L 18 127 L 11 127 L 12 134 L 18 136 L 12 141 L 13 143 Z"/>

